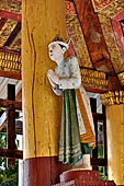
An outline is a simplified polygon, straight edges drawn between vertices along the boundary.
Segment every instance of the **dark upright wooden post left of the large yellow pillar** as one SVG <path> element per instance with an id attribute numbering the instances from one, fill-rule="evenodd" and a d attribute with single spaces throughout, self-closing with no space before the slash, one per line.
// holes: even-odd
<path id="1" fill-rule="evenodd" d="M 15 101 L 15 85 L 8 84 L 8 100 Z M 8 108 L 8 127 L 7 127 L 7 139 L 8 139 L 8 149 L 15 149 L 15 109 L 14 107 Z M 7 166 L 14 165 L 14 159 L 7 159 Z"/>

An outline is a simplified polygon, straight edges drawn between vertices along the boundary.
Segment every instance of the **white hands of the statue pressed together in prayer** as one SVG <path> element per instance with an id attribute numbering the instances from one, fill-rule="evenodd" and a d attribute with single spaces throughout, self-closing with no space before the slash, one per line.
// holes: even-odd
<path id="1" fill-rule="evenodd" d="M 56 84 L 59 84 L 59 75 L 52 69 L 47 71 L 47 77 Z"/>

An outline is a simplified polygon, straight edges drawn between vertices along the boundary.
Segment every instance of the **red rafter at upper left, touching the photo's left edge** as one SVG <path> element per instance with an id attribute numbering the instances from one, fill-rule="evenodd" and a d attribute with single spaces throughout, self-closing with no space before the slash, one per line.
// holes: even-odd
<path id="1" fill-rule="evenodd" d="M 14 20 L 14 21 L 18 21 L 18 22 L 22 21 L 21 14 L 8 12 L 5 10 L 0 10 L 0 18 L 10 19 L 10 20 Z"/>

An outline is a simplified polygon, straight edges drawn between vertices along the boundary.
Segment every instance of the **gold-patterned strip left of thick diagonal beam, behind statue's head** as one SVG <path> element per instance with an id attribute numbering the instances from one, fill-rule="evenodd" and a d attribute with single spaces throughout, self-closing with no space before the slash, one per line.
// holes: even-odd
<path id="1" fill-rule="evenodd" d="M 77 16 L 66 16 L 66 26 L 68 36 L 71 38 L 71 43 L 77 55 L 79 66 L 92 68 L 86 40 L 80 27 L 80 23 Z"/>

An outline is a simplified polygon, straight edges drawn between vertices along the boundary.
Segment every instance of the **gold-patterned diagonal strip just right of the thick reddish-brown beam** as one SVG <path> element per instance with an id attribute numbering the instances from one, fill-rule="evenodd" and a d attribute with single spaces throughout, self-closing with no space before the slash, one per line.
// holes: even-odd
<path id="1" fill-rule="evenodd" d="M 113 32 L 111 20 L 102 14 L 98 13 L 98 15 L 105 38 L 105 43 L 111 56 L 111 61 L 114 66 L 115 72 L 119 73 L 120 71 L 124 70 L 124 62 L 121 58 L 121 54 L 116 44 L 116 38 Z"/>

